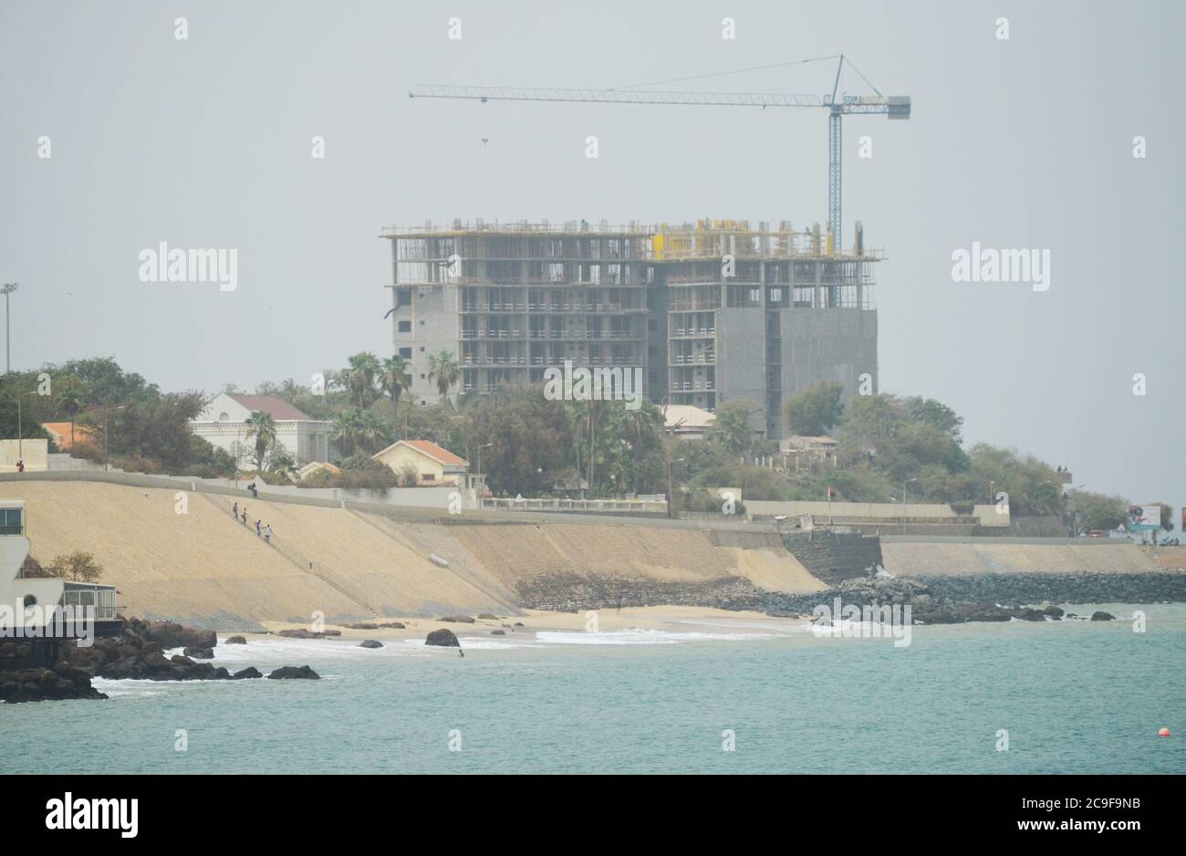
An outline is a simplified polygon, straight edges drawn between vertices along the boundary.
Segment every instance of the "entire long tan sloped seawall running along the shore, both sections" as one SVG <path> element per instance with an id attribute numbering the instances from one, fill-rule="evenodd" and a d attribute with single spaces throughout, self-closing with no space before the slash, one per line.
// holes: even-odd
<path id="1" fill-rule="evenodd" d="M 330 622 L 645 605 L 802 613 L 879 555 L 895 577 L 958 601 L 1186 600 L 1186 574 L 1128 543 L 817 532 L 808 549 L 752 523 L 449 516 L 203 492 L 187 493 L 180 513 L 172 487 L 96 480 L 5 479 L 0 497 L 26 500 L 37 560 L 93 552 L 126 614 L 217 630 L 314 613 Z M 230 516 L 235 502 L 249 525 Z M 270 543 L 256 518 L 272 525 Z M 834 541 L 842 549 L 816 555 Z"/>

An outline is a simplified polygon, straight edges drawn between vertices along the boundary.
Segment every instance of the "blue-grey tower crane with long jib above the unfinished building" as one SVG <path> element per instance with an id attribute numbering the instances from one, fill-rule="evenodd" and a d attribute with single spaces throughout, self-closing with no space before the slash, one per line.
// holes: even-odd
<path id="1" fill-rule="evenodd" d="M 836 81 L 831 94 L 824 95 L 786 95 L 779 92 L 694 92 L 657 89 L 544 89 L 516 87 L 459 87 L 459 85 L 417 85 L 408 90 L 409 98 L 464 98 L 470 101 L 561 101 L 599 104 L 682 104 L 695 107 L 815 107 L 828 110 L 828 237 L 833 250 L 840 248 L 841 235 L 841 119 L 846 114 L 884 114 L 890 119 L 910 119 L 908 95 L 882 95 L 876 87 L 861 75 L 860 70 L 841 53 L 839 57 L 820 57 L 801 59 L 796 63 L 817 62 L 818 59 L 837 59 Z M 875 95 L 847 95 L 840 92 L 840 77 L 848 64 L 861 79 L 869 85 Z M 759 66 L 774 68 L 772 65 Z M 755 71 L 758 69 L 740 69 Z M 737 74 L 726 71 L 721 74 Z M 697 77 L 713 77 L 701 75 Z M 688 78 L 678 78 L 688 79 Z M 664 81 L 670 83 L 674 81 Z"/>

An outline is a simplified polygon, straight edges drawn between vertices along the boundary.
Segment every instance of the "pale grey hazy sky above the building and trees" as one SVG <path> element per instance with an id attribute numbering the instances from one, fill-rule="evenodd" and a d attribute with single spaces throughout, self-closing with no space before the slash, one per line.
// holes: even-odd
<path id="1" fill-rule="evenodd" d="M 939 398 L 967 440 L 1066 464 L 1089 488 L 1180 506 L 1184 8 L 0 0 L 13 365 L 111 354 L 162 388 L 212 392 L 387 354 L 389 245 L 376 236 L 393 223 L 822 222 L 820 109 L 482 106 L 407 90 L 608 88 L 843 51 L 882 92 L 913 97 L 908 122 L 844 124 L 846 243 L 861 219 L 888 256 L 881 389 Z M 721 37 L 726 17 L 735 40 Z M 833 71 L 671 88 L 820 94 Z M 314 135 L 325 159 L 311 156 Z M 872 159 L 857 158 L 861 135 Z M 237 249 L 237 289 L 141 282 L 138 254 L 161 241 Z M 974 241 L 1048 249 L 1050 289 L 954 282 L 951 253 Z"/>

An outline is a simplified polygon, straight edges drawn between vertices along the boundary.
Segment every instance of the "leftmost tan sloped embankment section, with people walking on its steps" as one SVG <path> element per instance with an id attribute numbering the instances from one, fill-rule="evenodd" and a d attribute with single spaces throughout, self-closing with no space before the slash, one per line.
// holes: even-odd
<path id="1" fill-rule="evenodd" d="M 190 493 L 186 513 L 177 512 L 172 490 L 90 481 L 4 481 L 0 497 L 26 500 L 39 561 L 93 552 L 129 615 L 256 630 L 263 621 L 304 624 L 314 612 L 362 620 L 372 617 L 369 605 L 389 615 L 510 606 L 342 509 L 240 499 L 249 524 L 272 524 L 268 544 L 230 516 L 228 497 Z"/>

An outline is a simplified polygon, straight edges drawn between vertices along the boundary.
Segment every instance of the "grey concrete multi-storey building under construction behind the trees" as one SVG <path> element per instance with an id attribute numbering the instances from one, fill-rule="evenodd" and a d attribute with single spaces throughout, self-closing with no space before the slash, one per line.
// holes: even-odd
<path id="1" fill-rule="evenodd" d="M 752 405 L 767 437 L 784 403 L 816 381 L 876 391 L 873 263 L 857 223 L 853 247 L 816 225 L 746 221 L 611 226 L 426 223 L 391 241 L 395 352 L 410 398 L 438 400 L 428 358 L 448 351 L 458 392 L 535 383 L 549 366 L 642 368 L 656 403 Z"/>

